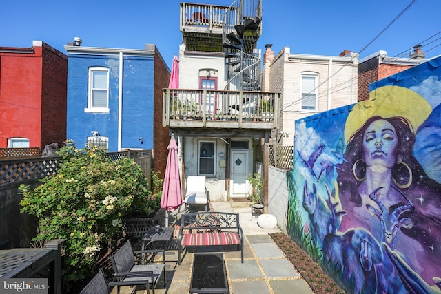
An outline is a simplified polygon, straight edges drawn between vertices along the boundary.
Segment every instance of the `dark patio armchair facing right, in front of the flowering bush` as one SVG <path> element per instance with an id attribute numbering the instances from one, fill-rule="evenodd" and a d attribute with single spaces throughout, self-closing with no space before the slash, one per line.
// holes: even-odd
<path id="1" fill-rule="evenodd" d="M 112 266 L 114 270 L 114 276 L 118 282 L 133 282 L 133 284 L 139 285 L 143 282 L 147 284 L 147 293 L 150 293 L 150 284 L 152 285 L 152 291 L 156 288 L 158 280 L 161 275 L 163 276 L 164 287 L 167 285 L 166 275 L 165 275 L 165 251 L 161 250 L 163 253 L 163 262 L 161 264 L 140 264 L 136 265 L 134 263 L 134 254 L 137 253 L 158 253 L 158 250 L 143 250 L 143 251 L 133 251 L 132 244 L 130 240 L 116 251 L 116 253 L 110 256 L 112 260 Z M 117 288 L 119 293 L 119 288 Z"/>

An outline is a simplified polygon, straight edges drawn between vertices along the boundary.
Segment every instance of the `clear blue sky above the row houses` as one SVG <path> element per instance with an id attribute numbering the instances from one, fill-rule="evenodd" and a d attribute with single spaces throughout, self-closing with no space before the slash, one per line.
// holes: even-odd
<path id="1" fill-rule="evenodd" d="M 152 43 L 171 68 L 181 43 L 180 2 L 3 1 L 0 47 L 32 47 L 32 40 L 39 40 L 65 53 L 64 45 L 74 36 L 88 47 L 144 49 L 146 43 Z M 232 2 L 189 1 L 227 6 Z M 289 47 L 291 53 L 329 56 L 347 49 L 359 52 L 361 59 L 378 50 L 391 57 L 408 55 L 413 45 L 422 44 L 427 58 L 441 55 L 440 0 L 417 0 L 391 24 L 411 2 L 263 0 L 263 35 L 258 48 L 264 52 L 269 43 L 276 54 Z"/>

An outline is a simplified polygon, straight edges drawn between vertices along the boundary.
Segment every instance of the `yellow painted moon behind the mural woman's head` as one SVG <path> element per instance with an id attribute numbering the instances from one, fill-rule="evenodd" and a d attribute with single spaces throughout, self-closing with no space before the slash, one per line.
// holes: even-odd
<path id="1" fill-rule="evenodd" d="M 426 120 L 432 107 L 420 94 L 399 86 L 384 86 L 369 92 L 369 100 L 353 106 L 346 119 L 345 140 L 371 116 L 391 118 L 402 116 L 413 126 L 413 132 Z"/>

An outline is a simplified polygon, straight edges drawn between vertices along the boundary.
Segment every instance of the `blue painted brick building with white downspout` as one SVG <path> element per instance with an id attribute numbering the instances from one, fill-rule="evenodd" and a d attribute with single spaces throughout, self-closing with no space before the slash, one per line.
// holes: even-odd
<path id="1" fill-rule="evenodd" d="M 155 121 L 162 120 L 161 90 L 168 86 L 170 69 L 156 46 L 132 50 L 80 45 L 65 46 L 67 138 L 77 147 L 89 142 L 109 151 L 166 146 L 168 130 Z"/>

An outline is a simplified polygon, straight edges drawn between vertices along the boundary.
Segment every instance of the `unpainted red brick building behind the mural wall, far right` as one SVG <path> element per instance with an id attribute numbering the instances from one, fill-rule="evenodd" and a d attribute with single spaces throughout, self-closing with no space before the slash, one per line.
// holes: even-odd
<path id="1" fill-rule="evenodd" d="M 380 50 L 358 63 L 358 101 L 369 99 L 369 84 L 402 72 L 410 67 L 426 62 L 424 52 L 415 46 L 409 57 L 389 57 L 387 52 Z"/>

